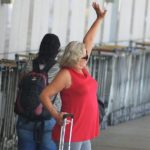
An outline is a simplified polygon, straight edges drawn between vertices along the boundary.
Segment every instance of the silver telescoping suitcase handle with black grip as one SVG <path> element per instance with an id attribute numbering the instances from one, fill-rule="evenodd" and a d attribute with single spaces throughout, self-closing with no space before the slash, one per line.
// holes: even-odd
<path id="1" fill-rule="evenodd" d="M 72 137 L 72 127 L 73 127 L 74 116 L 73 116 L 73 114 L 64 114 L 63 115 L 63 121 L 64 122 L 63 122 L 63 125 L 61 126 L 61 132 L 60 132 L 59 150 L 63 150 L 63 148 L 64 148 L 64 139 L 65 139 L 67 118 L 71 118 L 68 150 L 70 150 L 70 148 L 71 148 L 71 137 Z"/>

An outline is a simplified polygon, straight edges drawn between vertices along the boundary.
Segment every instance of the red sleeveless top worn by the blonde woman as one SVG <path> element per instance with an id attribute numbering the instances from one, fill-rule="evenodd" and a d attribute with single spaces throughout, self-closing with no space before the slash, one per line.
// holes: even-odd
<path id="1" fill-rule="evenodd" d="M 70 72 L 72 84 L 68 89 L 61 91 L 62 112 L 74 114 L 72 130 L 72 142 L 90 140 L 99 133 L 99 113 L 97 104 L 97 82 L 86 69 L 84 75 L 71 68 L 65 68 Z M 60 139 L 60 125 L 53 128 L 53 139 Z M 70 126 L 67 125 L 65 142 L 69 140 Z"/>

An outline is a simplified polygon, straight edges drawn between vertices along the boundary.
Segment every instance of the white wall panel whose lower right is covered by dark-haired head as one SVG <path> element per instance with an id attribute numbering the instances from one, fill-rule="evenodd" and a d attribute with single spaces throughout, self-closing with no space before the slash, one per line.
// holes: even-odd
<path id="1" fill-rule="evenodd" d="M 34 0 L 33 8 L 30 10 L 30 15 L 33 15 L 33 21 L 31 20 L 31 50 L 39 48 L 41 39 L 48 32 L 50 4 L 49 0 L 44 0 L 44 3 L 41 0 Z"/>

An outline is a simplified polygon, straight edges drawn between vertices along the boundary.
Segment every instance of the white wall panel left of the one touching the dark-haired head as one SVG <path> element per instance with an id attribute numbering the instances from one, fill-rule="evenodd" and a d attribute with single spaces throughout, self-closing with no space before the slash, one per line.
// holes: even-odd
<path id="1" fill-rule="evenodd" d="M 26 50 L 29 0 L 15 0 L 12 11 L 9 51 Z"/>

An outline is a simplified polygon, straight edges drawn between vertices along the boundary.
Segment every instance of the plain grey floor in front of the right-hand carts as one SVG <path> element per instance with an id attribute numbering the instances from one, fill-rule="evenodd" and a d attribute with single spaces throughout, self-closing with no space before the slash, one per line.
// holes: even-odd
<path id="1" fill-rule="evenodd" d="M 150 150 L 150 115 L 102 130 L 92 150 Z"/>

